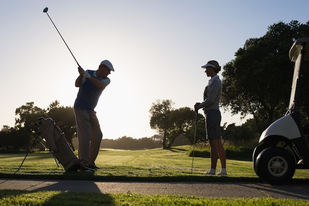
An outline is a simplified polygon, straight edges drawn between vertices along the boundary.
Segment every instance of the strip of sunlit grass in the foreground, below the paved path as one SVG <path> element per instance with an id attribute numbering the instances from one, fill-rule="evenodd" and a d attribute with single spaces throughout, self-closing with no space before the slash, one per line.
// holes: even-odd
<path id="1" fill-rule="evenodd" d="M 3 190 L 0 206 L 304 206 L 308 200 Z"/>

